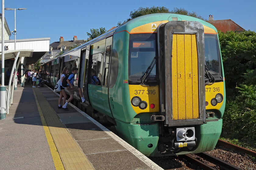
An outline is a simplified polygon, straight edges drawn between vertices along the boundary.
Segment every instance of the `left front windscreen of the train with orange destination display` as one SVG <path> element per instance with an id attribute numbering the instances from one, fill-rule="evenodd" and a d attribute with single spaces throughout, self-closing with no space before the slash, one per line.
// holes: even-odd
<path id="1" fill-rule="evenodd" d="M 129 41 L 129 79 L 141 78 L 156 56 L 156 34 L 131 34 Z M 157 64 L 156 64 L 157 65 Z M 148 77 L 156 80 L 157 69 L 153 67 Z"/>

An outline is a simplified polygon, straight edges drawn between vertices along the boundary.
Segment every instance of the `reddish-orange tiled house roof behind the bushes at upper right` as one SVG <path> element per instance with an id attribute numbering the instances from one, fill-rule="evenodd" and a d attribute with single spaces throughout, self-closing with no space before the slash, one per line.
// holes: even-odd
<path id="1" fill-rule="evenodd" d="M 222 32 L 227 32 L 227 31 L 242 32 L 245 30 L 242 27 L 240 27 L 240 25 L 232 21 L 231 19 L 209 20 L 207 22 L 209 22 L 210 24 L 215 26 L 217 30 L 220 30 Z"/>

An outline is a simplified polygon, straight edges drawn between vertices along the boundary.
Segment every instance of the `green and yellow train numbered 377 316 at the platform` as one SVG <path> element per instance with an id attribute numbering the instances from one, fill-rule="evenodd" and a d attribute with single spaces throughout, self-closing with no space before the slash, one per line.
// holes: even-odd
<path id="1" fill-rule="evenodd" d="M 74 84 L 86 112 L 104 115 L 144 155 L 214 149 L 226 99 L 219 38 L 208 22 L 140 16 L 45 63 L 43 78 L 54 87 L 65 66 L 79 68 Z M 92 69 L 101 85 L 92 84 Z"/>

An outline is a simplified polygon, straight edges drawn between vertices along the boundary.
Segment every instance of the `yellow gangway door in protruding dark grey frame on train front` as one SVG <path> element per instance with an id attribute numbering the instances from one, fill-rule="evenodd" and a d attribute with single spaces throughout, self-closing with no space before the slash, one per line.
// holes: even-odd
<path id="1" fill-rule="evenodd" d="M 169 21 L 158 27 L 160 105 L 165 124 L 205 121 L 204 27 L 197 21 Z"/>

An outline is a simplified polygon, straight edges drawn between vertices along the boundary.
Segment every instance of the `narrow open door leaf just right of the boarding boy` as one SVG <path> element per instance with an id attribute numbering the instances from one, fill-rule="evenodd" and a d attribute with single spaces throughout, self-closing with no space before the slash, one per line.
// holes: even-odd
<path id="1" fill-rule="evenodd" d="M 87 84 L 88 84 L 88 61 L 89 61 L 89 53 L 90 53 L 90 46 L 84 47 L 81 49 L 81 68 L 79 69 L 79 80 L 80 80 L 80 87 L 82 89 L 82 93 L 84 94 L 86 106 L 90 105 L 89 98 L 88 98 L 88 91 L 87 91 Z"/>

